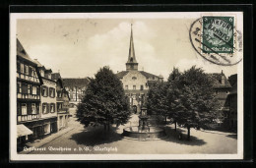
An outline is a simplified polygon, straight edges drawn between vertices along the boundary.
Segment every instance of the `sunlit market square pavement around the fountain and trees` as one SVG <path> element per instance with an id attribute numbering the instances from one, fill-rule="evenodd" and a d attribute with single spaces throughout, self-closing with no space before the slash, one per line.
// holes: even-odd
<path id="1" fill-rule="evenodd" d="M 174 132 L 173 125 L 165 126 L 167 137 L 163 140 L 138 141 L 129 140 L 121 136 L 122 130 L 130 125 L 138 125 L 138 116 L 133 115 L 125 126 L 111 131 L 104 131 L 102 127 L 84 128 L 76 118 L 70 119 L 67 133 L 54 140 L 42 144 L 30 154 L 181 154 L 181 153 L 236 153 L 236 135 L 223 132 L 197 131 L 191 129 L 191 140 L 178 140 L 178 133 L 186 136 L 186 130 L 178 128 Z"/>

